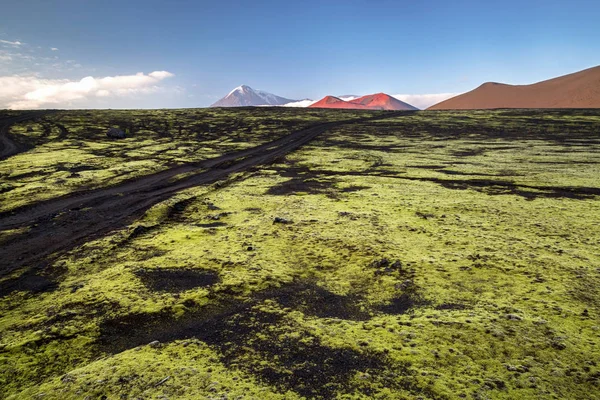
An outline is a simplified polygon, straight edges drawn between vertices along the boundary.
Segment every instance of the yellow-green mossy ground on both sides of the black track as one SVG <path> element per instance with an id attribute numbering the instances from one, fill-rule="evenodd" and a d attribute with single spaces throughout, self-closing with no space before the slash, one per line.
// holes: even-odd
<path id="1" fill-rule="evenodd" d="M 136 126 L 196 114 L 185 134 L 115 144 L 98 121 L 119 113 L 40 121 L 69 133 L 0 163 L 18 187 L 3 209 L 349 116 L 156 111 Z M 208 145 L 201 124 L 222 124 Z M 65 163 L 117 170 L 62 187 Z M 600 111 L 331 129 L 71 251 L 50 290 L 0 299 L 0 397 L 600 399 L 599 176 Z"/>

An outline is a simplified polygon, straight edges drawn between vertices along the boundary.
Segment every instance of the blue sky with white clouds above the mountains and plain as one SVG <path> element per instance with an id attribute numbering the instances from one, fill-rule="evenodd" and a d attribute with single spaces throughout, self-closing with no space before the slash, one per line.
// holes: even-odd
<path id="1" fill-rule="evenodd" d="M 600 2 L 0 0 L 0 108 L 385 92 L 418 107 L 600 65 Z"/>

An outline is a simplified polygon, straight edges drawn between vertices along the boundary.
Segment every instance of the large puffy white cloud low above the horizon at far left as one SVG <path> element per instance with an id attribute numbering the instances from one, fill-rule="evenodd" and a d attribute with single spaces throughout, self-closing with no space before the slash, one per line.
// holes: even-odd
<path id="1" fill-rule="evenodd" d="M 41 79 L 35 76 L 0 76 L 0 108 L 35 109 L 85 107 L 93 98 L 144 95 L 156 92 L 160 81 L 174 76 L 167 71 L 145 75 L 85 77 L 79 81 Z"/>

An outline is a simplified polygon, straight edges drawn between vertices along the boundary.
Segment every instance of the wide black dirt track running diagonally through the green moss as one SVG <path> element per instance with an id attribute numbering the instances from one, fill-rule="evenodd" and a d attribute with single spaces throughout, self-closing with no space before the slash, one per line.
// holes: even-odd
<path id="1" fill-rule="evenodd" d="M 398 114 L 389 113 L 375 119 L 391 118 Z M 373 118 L 319 124 L 248 150 L 0 214 L 0 231 L 29 227 L 26 233 L 16 235 L 2 244 L 4 254 L 0 264 L 0 277 L 20 267 L 35 270 L 54 253 L 68 251 L 92 238 L 126 227 L 148 208 L 178 191 L 210 184 L 232 173 L 273 162 L 327 129 L 369 119 Z M 171 179 L 179 174 L 195 171 L 198 172 L 178 180 Z"/>

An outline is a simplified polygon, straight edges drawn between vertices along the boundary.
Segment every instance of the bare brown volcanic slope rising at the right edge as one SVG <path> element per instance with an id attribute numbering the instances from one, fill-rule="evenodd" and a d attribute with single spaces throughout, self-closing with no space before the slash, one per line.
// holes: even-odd
<path id="1" fill-rule="evenodd" d="M 487 82 L 428 110 L 600 108 L 600 66 L 532 85 Z"/>

